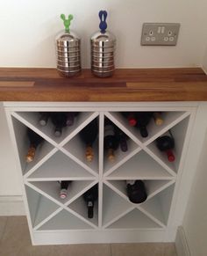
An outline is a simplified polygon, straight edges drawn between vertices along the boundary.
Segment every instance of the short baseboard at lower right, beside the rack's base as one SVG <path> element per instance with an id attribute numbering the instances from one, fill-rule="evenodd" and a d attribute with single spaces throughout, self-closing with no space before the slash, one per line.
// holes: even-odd
<path id="1" fill-rule="evenodd" d="M 185 231 L 183 227 L 178 227 L 176 238 L 175 238 L 175 247 L 178 256 L 190 256 L 189 245 L 185 236 Z"/>

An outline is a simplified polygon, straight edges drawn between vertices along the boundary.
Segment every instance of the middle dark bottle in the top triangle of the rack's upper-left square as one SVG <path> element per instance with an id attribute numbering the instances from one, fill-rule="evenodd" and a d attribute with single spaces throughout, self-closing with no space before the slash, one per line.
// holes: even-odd
<path id="1" fill-rule="evenodd" d="M 66 127 L 67 113 L 53 112 L 51 113 L 51 120 L 54 124 L 55 137 L 60 137 L 62 134 L 62 128 Z"/>

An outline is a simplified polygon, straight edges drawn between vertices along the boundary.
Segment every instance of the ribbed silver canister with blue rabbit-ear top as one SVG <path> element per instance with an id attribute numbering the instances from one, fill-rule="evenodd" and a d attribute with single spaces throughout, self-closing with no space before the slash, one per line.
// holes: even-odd
<path id="1" fill-rule="evenodd" d="M 91 71 L 96 77 L 111 77 L 115 70 L 115 36 L 106 31 L 106 11 L 99 11 L 100 31 L 90 39 Z"/>

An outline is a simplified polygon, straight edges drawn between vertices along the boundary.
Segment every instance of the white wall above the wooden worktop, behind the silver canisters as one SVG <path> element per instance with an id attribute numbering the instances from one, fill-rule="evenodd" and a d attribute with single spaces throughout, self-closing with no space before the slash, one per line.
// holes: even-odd
<path id="1" fill-rule="evenodd" d="M 54 36 L 61 12 L 73 13 L 82 36 L 82 64 L 89 67 L 89 38 L 97 13 L 109 11 L 109 29 L 118 40 L 118 67 L 200 66 L 207 45 L 206 0 L 8 0 L 0 8 L 0 66 L 55 67 Z M 179 22 L 177 47 L 141 47 L 143 22 Z"/>

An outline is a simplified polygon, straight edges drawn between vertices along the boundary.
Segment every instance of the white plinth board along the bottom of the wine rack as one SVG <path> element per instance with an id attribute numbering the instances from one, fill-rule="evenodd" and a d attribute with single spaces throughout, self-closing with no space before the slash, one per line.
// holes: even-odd
<path id="1" fill-rule="evenodd" d="M 32 245 L 162 243 L 165 230 L 34 231 Z"/>

